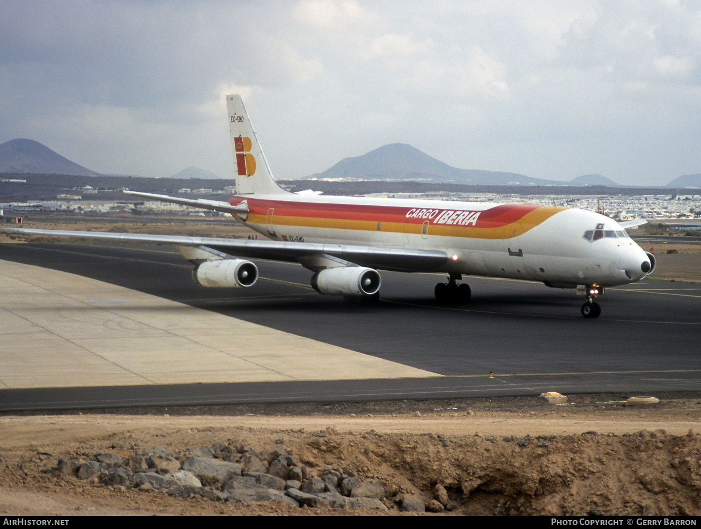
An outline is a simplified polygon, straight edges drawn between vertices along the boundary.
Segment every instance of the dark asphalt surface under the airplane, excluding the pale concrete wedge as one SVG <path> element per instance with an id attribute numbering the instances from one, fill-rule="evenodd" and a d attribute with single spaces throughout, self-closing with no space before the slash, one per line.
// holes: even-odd
<path id="1" fill-rule="evenodd" d="M 343 401 L 701 389 L 701 285 L 646 279 L 599 296 L 598 319 L 573 290 L 466 277 L 472 300 L 440 304 L 442 274 L 381 272 L 379 304 L 316 293 L 299 265 L 256 261 L 252 288 L 203 288 L 170 246 L 3 244 L 0 259 L 88 276 L 288 333 L 430 370 L 428 379 L 172 384 L 0 391 L 37 407 Z M 254 337 L 252 337 L 254 339 Z M 245 344 L 242 344 L 245 347 Z M 493 377 L 490 377 L 493 373 Z M 43 403 L 43 404 L 41 404 Z M 9 409 L 9 408 L 8 408 Z"/>

